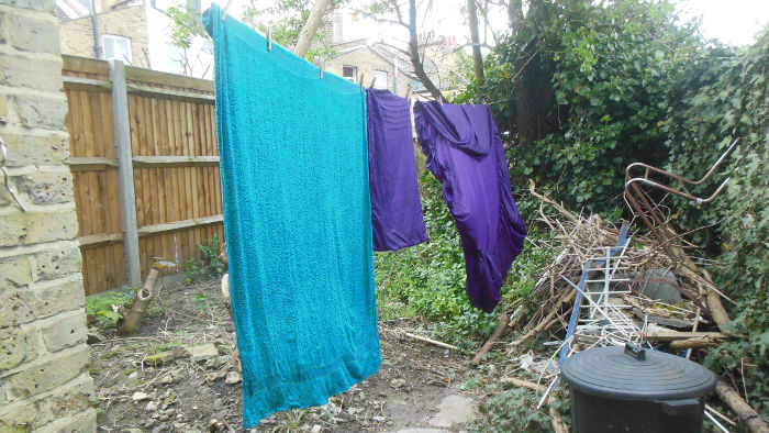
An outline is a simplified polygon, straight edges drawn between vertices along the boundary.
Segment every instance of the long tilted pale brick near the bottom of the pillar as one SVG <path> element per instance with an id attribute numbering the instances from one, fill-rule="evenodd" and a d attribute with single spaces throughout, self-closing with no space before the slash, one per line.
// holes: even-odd
<path id="1" fill-rule="evenodd" d="M 49 391 L 66 384 L 85 370 L 89 360 L 88 346 L 69 349 L 45 360 L 37 359 L 34 365 L 9 376 L 9 390 L 19 398 L 29 398 Z"/>

